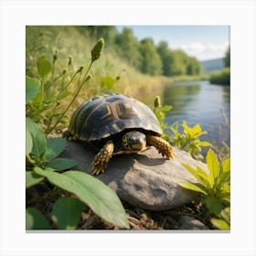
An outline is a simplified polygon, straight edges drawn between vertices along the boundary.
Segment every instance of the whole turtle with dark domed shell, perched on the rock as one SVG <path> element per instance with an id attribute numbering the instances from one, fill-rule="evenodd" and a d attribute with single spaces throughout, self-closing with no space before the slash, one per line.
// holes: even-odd
<path id="1" fill-rule="evenodd" d="M 72 114 L 69 140 L 91 144 L 98 150 L 91 163 L 91 173 L 103 173 L 112 155 L 137 154 L 151 146 L 173 158 L 171 145 L 161 138 L 162 129 L 143 102 L 123 94 L 106 93 L 84 101 Z"/>

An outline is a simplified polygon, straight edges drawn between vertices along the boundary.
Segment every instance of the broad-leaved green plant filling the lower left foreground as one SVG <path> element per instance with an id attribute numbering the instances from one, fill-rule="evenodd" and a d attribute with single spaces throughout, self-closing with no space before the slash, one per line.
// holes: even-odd
<path id="1" fill-rule="evenodd" d="M 112 224 L 129 229 L 128 220 L 125 216 L 125 211 L 120 199 L 112 191 L 112 189 L 104 185 L 100 180 L 93 176 L 87 175 L 80 171 L 67 171 L 57 173 L 56 171 L 69 169 L 77 164 L 76 161 L 68 158 L 58 158 L 65 147 L 66 140 L 63 138 L 54 138 L 46 140 L 43 131 L 32 120 L 27 118 L 27 172 L 26 172 L 26 187 L 33 187 L 42 183 L 45 178 L 54 186 L 57 186 L 69 193 L 72 193 L 80 198 L 80 201 L 88 205 L 91 210 L 100 216 L 102 219 L 111 222 Z M 70 202 L 69 199 L 65 202 Z M 76 203 L 76 206 L 79 203 Z M 67 207 L 67 206 L 66 206 Z M 56 203 L 53 208 L 53 221 L 56 222 L 59 229 L 75 229 L 80 216 L 81 207 L 69 209 L 65 214 L 72 215 L 63 220 L 63 204 Z M 39 229 L 47 228 L 45 218 L 38 213 L 35 208 L 27 210 L 28 224 L 27 227 Z M 29 220 L 30 219 L 30 220 Z M 32 225 L 33 221 L 38 224 Z M 61 220 L 59 220 L 61 219 Z M 30 223 L 30 222 L 31 223 Z M 30 223 L 30 224 L 29 224 Z M 40 224 L 41 223 L 41 224 Z"/>

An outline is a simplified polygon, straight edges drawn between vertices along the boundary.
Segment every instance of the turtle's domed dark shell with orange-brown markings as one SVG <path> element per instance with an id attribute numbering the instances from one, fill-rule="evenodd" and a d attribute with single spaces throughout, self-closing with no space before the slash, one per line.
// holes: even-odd
<path id="1" fill-rule="evenodd" d="M 74 138 L 89 143 L 126 130 L 162 134 L 154 112 L 143 102 L 122 94 L 104 94 L 83 102 L 69 124 L 69 133 Z"/>

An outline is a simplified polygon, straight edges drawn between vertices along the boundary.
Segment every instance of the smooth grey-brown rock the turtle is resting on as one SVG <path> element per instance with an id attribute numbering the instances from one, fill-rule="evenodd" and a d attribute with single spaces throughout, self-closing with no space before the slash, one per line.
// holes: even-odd
<path id="1" fill-rule="evenodd" d="M 153 147 L 135 155 L 113 155 L 105 173 L 95 176 L 112 187 L 117 195 L 135 207 L 150 210 L 176 208 L 190 202 L 197 193 L 178 185 L 181 181 L 197 182 L 181 165 L 207 166 L 193 159 L 187 152 L 173 147 L 176 156 L 167 160 Z M 77 169 L 91 173 L 91 162 L 96 155 L 87 144 L 67 142 L 61 157 L 77 160 Z M 75 169 L 75 168 L 73 168 Z"/>

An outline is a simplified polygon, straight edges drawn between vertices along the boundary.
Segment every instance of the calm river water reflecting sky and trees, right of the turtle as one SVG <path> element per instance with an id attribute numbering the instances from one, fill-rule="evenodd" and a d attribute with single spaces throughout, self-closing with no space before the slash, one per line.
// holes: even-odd
<path id="1" fill-rule="evenodd" d="M 183 132 L 183 120 L 189 126 L 199 123 L 202 129 L 208 132 L 200 137 L 201 140 L 218 146 L 224 141 L 229 145 L 229 126 L 220 112 L 222 110 L 230 120 L 229 86 L 213 85 L 200 80 L 176 82 L 165 86 L 164 91 L 157 92 L 158 95 L 162 95 L 163 105 L 173 107 L 165 118 L 166 123 L 173 124 L 177 121 L 180 132 Z"/>

